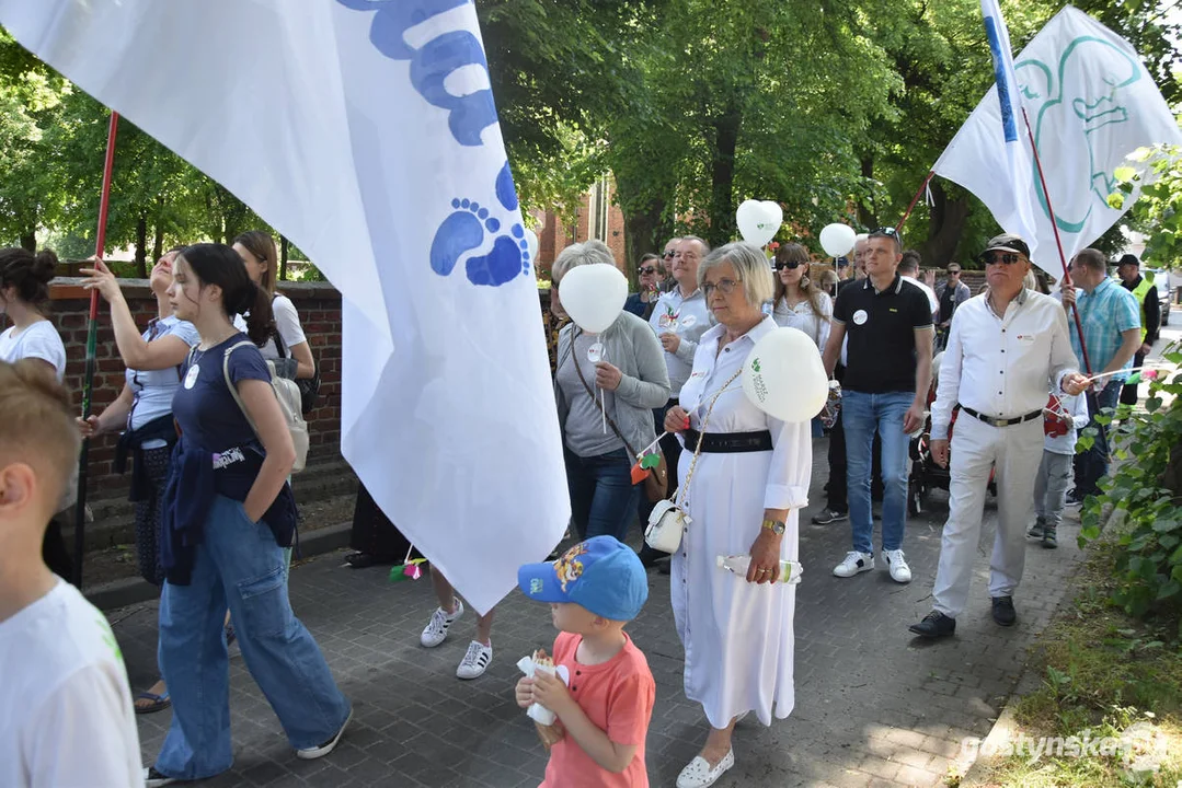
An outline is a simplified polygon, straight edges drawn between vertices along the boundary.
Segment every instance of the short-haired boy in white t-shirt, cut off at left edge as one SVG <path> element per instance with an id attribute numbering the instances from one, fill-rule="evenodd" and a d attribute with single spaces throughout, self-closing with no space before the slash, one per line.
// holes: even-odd
<path id="1" fill-rule="evenodd" d="M 44 364 L 0 362 L 0 786 L 143 786 L 119 646 L 41 560 L 79 432 Z"/>

